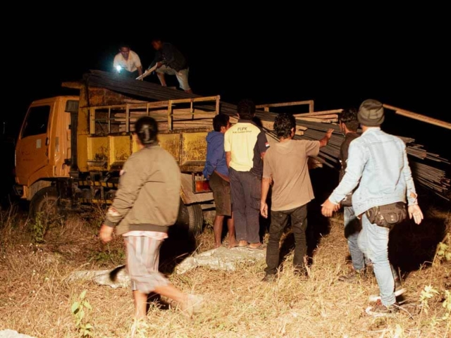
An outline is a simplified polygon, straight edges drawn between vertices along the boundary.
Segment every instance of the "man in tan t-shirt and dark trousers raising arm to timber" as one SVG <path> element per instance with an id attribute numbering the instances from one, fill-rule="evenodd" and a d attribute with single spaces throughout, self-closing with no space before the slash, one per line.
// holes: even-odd
<path id="1" fill-rule="evenodd" d="M 314 199 L 309 176 L 309 156 L 318 156 L 321 146 L 326 146 L 333 129 L 328 130 L 319 141 L 294 140 L 296 119 L 283 113 L 276 116 L 274 130 L 279 142 L 266 151 L 261 180 L 260 212 L 268 218 L 269 184 L 273 181 L 271 194 L 271 225 L 266 249 L 266 275 L 264 282 L 276 279 L 279 265 L 279 244 L 283 230 L 291 219 L 295 235 L 293 266 L 300 277 L 307 276 L 307 204 Z"/>

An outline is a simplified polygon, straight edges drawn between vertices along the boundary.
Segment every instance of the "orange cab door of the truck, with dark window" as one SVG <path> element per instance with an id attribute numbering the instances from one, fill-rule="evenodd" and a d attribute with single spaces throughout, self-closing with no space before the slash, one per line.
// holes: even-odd
<path id="1" fill-rule="evenodd" d="M 54 104 L 31 106 L 16 146 L 16 175 L 18 183 L 27 180 L 49 163 L 49 121 Z"/>

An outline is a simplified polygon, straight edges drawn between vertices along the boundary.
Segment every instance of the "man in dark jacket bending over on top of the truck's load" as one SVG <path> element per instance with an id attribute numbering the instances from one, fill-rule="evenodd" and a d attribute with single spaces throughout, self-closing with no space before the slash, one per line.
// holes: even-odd
<path id="1" fill-rule="evenodd" d="M 161 39 L 152 39 L 152 46 L 156 50 L 154 61 L 149 68 L 156 65 L 156 75 L 163 87 L 166 87 L 165 74 L 175 75 L 177 77 L 180 88 L 185 92 L 192 94 L 190 84 L 188 83 L 188 67 L 185 56 L 173 44 L 162 42 Z"/>

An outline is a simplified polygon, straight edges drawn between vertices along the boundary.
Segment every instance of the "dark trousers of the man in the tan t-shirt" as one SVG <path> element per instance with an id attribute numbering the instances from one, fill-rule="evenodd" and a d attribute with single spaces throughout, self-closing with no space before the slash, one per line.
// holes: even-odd
<path id="1" fill-rule="evenodd" d="M 305 269 L 304 256 L 307 256 L 307 204 L 287 211 L 271 211 L 271 225 L 269 227 L 268 246 L 266 247 L 266 275 L 277 273 L 279 266 L 279 244 L 283 230 L 291 218 L 292 233 L 295 237 L 295 256 L 293 267 Z"/>

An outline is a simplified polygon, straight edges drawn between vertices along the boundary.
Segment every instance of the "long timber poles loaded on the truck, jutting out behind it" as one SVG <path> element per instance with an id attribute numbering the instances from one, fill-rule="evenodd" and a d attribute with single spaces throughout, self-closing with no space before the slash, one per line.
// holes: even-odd
<path id="1" fill-rule="evenodd" d="M 152 82 L 119 78 L 113 73 L 102 72 L 99 70 L 91 70 L 90 73 L 85 74 L 83 81 L 89 86 L 104 87 L 114 92 L 128 94 L 131 97 L 149 101 L 200 97 L 195 94 L 187 94 L 181 90 L 161 87 L 159 84 L 154 84 Z M 278 106 L 283 105 L 284 104 L 279 104 Z M 309 113 L 294 114 L 297 120 L 295 139 L 319 140 L 329 128 L 333 128 L 334 132 L 328 145 L 321 148 L 319 156 L 314 159 L 323 165 L 338 169 L 340 168 L 340 163 L 338 161 L 340 145 L 344 140 L 344 136 L 336 123 L 338 122 L 338 114 L 340 114 L 342 110 L 336 109 L 314 112 L 313 104 L 311 104 L 310 107 Z M 422 120 L 425 123 L 440 125 L 441 127 L 447 127 L 448 129 L 451 128 L 450 123 L 444 123 L 440 120 L 428 118 L 424 115 L 419 115 L 385 104 L 384 107 L 409 118 Z M 204 108 L 208 109 L 209 107 L 206 104 Z M 210 108 L 214 110 L 214 106 L 211 106 Z M 221 101 L 221 113 L 230 115 L 231 123 L 237 122 L 235 105 Z M 277 137 L 273 131 L 273 122 L 277 115 L 278 113 L 270 112 L 268 109 L 259 109 L 256 113 L 256 116 L 259 118 L 261 126 L 266 131 L 268 137 L 271 137 L 274 140 L 277 140 Z M 137 117 L 138 116 L 134 116 L 134 118 Z M 431 192 L 438 194 L 438 196 L 450 201 L 450 178 L 447 176 L 450 165 L 449 159 L 442 158 L 438 154 L 432 154 L 426 151 L 424 146 L 415 144 L 414 139 L 400 137 L 406 143 L 412 176 L 414 177 L 416 184 L 420 184 L 421 186 L 426 187 L 426 189 L 431 190 Z"/>

